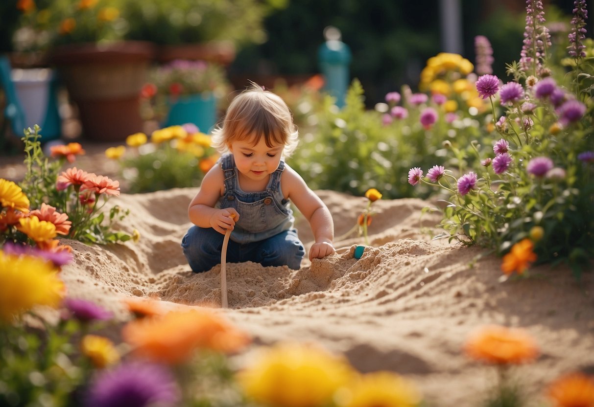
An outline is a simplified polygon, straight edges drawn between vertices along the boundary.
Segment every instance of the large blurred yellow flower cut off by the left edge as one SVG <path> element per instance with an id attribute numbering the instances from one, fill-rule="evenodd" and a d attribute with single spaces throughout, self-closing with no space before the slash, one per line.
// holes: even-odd
<path id="1" fill-rule="evenodd" d="M 36 305 L 57 307 L 64 294 L 52 263 L 0 251 L 0 320 L 10 322 Z"/>

